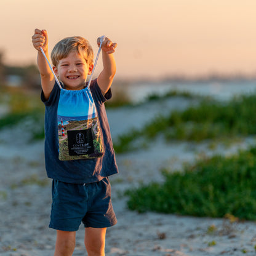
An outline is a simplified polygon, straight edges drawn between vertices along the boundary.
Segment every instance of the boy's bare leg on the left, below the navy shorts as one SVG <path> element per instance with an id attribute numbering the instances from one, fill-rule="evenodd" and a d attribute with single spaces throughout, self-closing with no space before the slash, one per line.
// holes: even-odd
<path id="1" fill-rule="evenodd" d="M 54 256 L 71 256 L 76 246 L 76 232 L 57 230 Z"/>

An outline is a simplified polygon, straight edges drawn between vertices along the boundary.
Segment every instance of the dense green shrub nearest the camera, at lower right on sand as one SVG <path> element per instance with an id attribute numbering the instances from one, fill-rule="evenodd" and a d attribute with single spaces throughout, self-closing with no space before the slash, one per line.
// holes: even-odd
<path id="1" fill-rule="evenodd" d="M 256 148 L 236 156 L 214 156 L 186 167 L 163 170 L 164 183 L 129 190 L 131 210 L 256 220 Z"/>

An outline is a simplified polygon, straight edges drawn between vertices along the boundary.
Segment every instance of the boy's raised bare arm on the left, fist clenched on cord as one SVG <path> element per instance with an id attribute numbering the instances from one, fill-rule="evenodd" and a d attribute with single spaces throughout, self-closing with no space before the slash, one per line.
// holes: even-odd
<path id="1" fill-rule="evenodd" d="M 32 42 L 34 48 L 38 50 L 38 69 L 41 76 L 42 91 L 44 92 L 44 97 L 47 100 L 50 97 L 50 92 L 52 92 L 55 83 L 54 74 L 52 74 L 46 59 L 40 50 L 40 47 L 42 47 L 46 57 L 49 59 L 47 31 L 38 30 L 38 28 L 36 28 L 32 36 Z"/>

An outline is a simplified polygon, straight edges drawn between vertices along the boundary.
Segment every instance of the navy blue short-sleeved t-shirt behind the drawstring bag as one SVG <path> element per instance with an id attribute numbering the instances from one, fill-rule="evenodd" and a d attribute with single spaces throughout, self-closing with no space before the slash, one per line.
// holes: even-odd
<path id="1" fill-rule="evenodd" d="M 114 155 L 110 126 L 106 116 L 104 102 L 111 98 L 111 89 L 102 94 L 97 79 L 91 82 L 90 91 L 98 113 L 98 120 L 103 135 L 103 148 L 105 153 L 101 158 L 81 159 L 73 161 L 60 161 L 58 159 L 58 124 L 57 110 L 60 98 L 60 88 L 55 82 L 48 100 L 41 94 L 41 100 L 46 106 L 45 113 L 45 145 L 46 172 L 49 178 L 66 183 L 92 183 L 102 178 L 117 174 L 118 166 Z"/>

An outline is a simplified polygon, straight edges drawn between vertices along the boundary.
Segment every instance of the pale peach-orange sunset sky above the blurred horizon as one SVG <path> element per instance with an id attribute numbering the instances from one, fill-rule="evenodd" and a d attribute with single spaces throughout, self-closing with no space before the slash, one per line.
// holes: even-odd
<path id="1" fill-rule="evenodd" d="M 2 0 L 0 50 L 5 63 L 26 65 L 36 62 L 34 28 L 47 30 L 50 50 L 79 35 L 95 54 L 105 34 L 118 43 L 119 78 L 256 74 L 255 14 L 255 0 Z"/>

